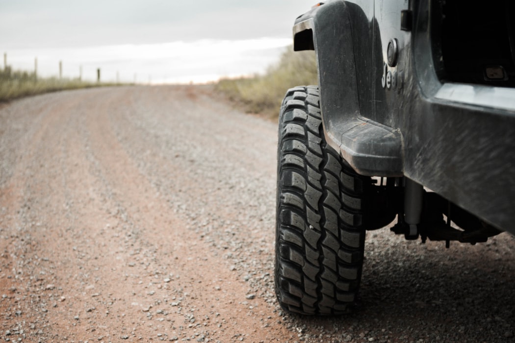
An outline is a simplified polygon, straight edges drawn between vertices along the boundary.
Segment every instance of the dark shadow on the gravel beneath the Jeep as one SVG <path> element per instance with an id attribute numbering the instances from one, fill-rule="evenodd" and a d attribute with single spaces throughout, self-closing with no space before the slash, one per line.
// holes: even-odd
<path id="1" fill-rule="evenodd" d="M 515 237 L 445 249 L 368 235 L 358 311 L 297 317 L 298 330 L 317 341 L 515 341 Z"/>

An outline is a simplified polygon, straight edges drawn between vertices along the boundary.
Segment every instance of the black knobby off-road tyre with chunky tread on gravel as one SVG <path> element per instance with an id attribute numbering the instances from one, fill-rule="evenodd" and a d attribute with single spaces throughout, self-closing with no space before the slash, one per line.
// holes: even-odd
<path id="1" fill-rule="evenodd" d="M 277 179 L 275 285 L 284 310 L 334 315 L 355 308 L 371 185 L 325 142 L 318 88 L 289 89 Z"/>

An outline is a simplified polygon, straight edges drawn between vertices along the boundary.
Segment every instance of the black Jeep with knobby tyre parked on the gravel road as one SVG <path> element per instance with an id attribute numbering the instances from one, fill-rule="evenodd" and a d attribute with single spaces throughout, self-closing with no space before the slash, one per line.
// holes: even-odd
<path id="1" fill-rule="evenodd" d="M 279 122 L 276 291 L 353 310 L 366 230 L 476 244 L 515 233 L 515 2 L 332 0 L 299 16 L 318 86 Z"/>

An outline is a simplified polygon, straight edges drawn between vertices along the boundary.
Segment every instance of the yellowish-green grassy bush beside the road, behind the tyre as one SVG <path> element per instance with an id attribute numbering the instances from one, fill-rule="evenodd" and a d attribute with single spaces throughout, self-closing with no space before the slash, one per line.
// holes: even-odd
<path id="1" fill-rule="evenodd" d="M 277 118 L 288 88 L 317 83 L 315 52 L 294 52 L 293 47 L 289 46 L 279 63 L 270 66 L 264 75 L 222 79 L 216 87 L 231 100 L 243 103 L 248 113 Z"/>

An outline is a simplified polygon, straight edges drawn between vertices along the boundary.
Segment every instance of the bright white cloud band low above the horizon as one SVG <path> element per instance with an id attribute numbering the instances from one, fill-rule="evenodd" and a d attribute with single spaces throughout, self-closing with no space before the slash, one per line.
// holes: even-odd
<path id="1" fill-rule="evenodd" d="M 94 81 L 96 69 L 102 80 L 132 82 L 207 82 L 225 76 L 263 73 L 274 63 L 289 39 L 211 40 L 158 44 L 124 44 L 83 48 L 13 50 L 8 56 L 14 69 L 33 70 L 38 57 L 38 74 L 57 76 L 63 62 L 63 76 Z"/>

